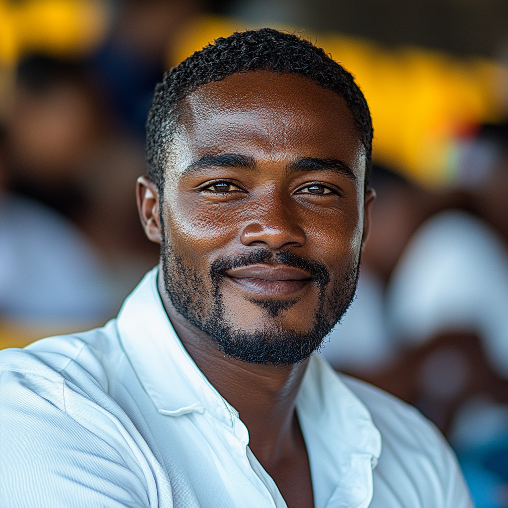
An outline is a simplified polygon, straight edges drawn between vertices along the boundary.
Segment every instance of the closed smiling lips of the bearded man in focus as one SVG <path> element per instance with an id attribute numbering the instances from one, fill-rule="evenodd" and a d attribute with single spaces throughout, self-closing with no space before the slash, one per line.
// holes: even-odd
<path id="1" fill-rule="evenodd" d="M 227 275 L 243 291 L 264 298 L 294 298 L 312 281 L 306 270 L 285 265 L 250 265 Z"/>

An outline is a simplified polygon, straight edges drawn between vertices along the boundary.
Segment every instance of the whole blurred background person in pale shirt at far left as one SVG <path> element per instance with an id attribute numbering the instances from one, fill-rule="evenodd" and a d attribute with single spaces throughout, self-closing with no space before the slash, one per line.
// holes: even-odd
<path id="1" fill-rule="evenodd" d="M 16 242 L 24 242 L 15 247 L 6 238 L 5 259 L 24 266 L 27 256 L 35 257 L 27 244 L 39 241 L 41 266 L 29 263 L 39 274 L 29 277 L 29 294 L 28 281 L 11 289 L 19 276 L 8 267 L 4 313 L 12 314 L 10 321 L 28 321 L 33 330 L 26 330 L 27 339 L 104 323 L 156 263 L 157 253 L 129 199 L 144 171 L 143 146 L 119 128 L 85 61 L 44 54 L 20 61 L 5 156 L 11 190 L 3 206 L 5 235 L 14 238 L 16 231 Z M 109 220 L 101 220 L 106 214 Z"/>

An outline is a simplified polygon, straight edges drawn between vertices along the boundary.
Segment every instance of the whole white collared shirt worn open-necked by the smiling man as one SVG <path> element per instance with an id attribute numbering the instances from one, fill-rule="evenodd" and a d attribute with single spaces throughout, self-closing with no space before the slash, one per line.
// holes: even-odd
<path id="1" fill-rule="evenodd" d="M 156 275 L 104 328 L 0 353 L 0 506 L 286 506 L 175 334 Z M 297 413 L 316 508 L 471 506 L 429 422 L 317 356 Z"/>

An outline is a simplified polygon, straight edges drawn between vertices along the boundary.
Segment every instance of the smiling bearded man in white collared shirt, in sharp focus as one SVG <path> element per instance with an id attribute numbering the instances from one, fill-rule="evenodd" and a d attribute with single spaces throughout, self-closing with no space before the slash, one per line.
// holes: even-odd
<path id="1" fill-rule="evenodd" d="M 137 186 L 160 266 L 104 328 L 2 354 L 5 505 L 470 506 L 429 423 L 311 356 L 355 293 L 371 141 L 294 35 L 172 69 Z"/>

